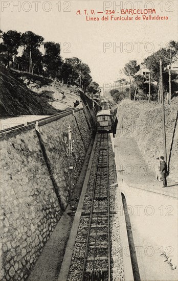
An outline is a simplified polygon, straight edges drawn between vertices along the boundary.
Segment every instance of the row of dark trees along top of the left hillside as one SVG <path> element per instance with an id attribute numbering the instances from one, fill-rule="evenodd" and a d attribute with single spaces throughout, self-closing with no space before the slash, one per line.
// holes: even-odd
<path id="1" fill-rule="evenodd" d="M 27 31 L 0 31 L 0 63 L 8 68 L 57 79 L 64 84 L 80 85 L 91 94 L 97 92 L 98 84 L 92 81 L 90 67 L 80 59 L 60 56 L 60 44 L 44 42 L 40 35 Z M 43 46 L 44 54 L 40 52 Z"/>

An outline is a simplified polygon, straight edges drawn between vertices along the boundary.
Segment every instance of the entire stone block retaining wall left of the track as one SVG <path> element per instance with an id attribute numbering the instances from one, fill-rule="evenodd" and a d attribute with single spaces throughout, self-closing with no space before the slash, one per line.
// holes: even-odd
<path id="1" fill-rule="evenodd" d="M 1 136 L 2 281 L 27 279 L 60 220 L 61 205 L 65 209 L 69 203 L 70 186 L 73 191 L 93 133 L 83 110 L 74 114 L 39 124 L 43 149 L 34 128 Z M 71 183 L 69 125 L 74 167 Z"/>

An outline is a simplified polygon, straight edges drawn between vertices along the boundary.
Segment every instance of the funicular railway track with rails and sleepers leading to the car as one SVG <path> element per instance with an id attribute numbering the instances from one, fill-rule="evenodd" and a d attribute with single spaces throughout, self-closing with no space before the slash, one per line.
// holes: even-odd
<path id="1" fill-rule="evenodd" d="M 108 134 L 100 134 L 68 281 L 110 281 Z"/>

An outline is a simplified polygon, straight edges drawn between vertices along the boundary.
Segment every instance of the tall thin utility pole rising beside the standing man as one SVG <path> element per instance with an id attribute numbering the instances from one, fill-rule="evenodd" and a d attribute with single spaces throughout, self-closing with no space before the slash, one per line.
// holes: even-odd
<path id="1" fill-rule="evenodd" d="M 162 60 L 160 60 L 160 90 L 162 98 L 162 119 L 163 119 L 163 145 L 164 145 L 164 157 L 167 162 L 167 151 L 166 151 L 166 129 L 165 129 L 165 110 L 164 110 L 164 95 L 163 95 L 163 71 L 162 71 Z"/>

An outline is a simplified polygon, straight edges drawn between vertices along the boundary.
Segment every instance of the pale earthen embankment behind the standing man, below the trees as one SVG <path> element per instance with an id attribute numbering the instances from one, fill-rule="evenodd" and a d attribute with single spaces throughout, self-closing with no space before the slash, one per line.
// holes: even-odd
<path id="1" fill-rule="evenodd" d="M 170 177 L 177 180 L 177 98 L 165 104 L 167 162 Z M 162 105 L 124 100 L 118 105 L 119 137 L 134 138 L 147 165 L 155 166 L 155 157 L 164 155 Z"/>

